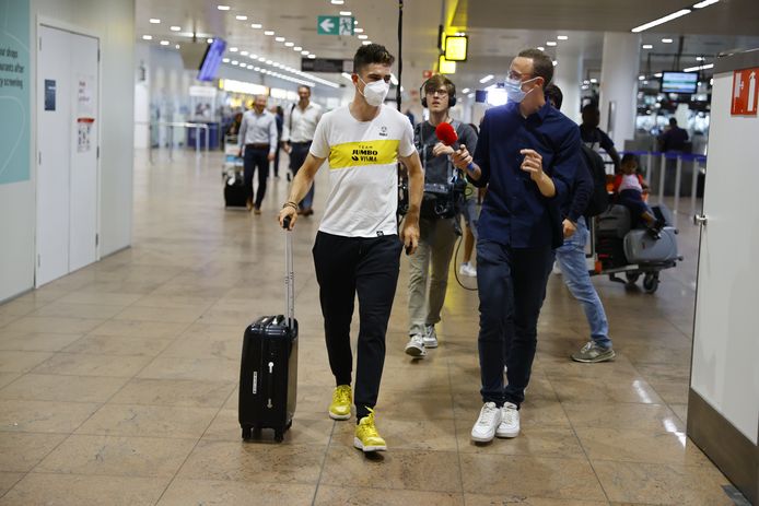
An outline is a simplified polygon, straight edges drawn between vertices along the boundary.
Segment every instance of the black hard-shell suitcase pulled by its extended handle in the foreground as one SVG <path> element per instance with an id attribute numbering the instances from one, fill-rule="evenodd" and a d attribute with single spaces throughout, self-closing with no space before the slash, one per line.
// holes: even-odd
<path id="1" fill-rule="evenodd" d="M 287 315 L 264 316 L 245 329 L 238 420 L 243 439 L 273 428 L 281 443 L 292 425 L 297 391 L 297 321 L 293 317 L 292 232 L 285 232 Z"/>

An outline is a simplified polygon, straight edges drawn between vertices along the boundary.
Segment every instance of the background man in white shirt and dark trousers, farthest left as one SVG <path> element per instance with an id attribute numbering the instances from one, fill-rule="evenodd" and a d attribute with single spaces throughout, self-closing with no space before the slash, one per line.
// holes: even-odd
<path id="1" fill-rule="evenodd" d="M 266 179 L 269 177 L 269 162 L 277 152 L 277 119 L 266 110 L 266 95 L 256 95 L 253 109 L 245 111 L 240 127 L 240 156 L 244 156 L 246 205 L 255 214 L 261 213 L 261 202 L 266 196 Z M 253 174 L 258 169 L 258 189 L 253 201 Z"/>

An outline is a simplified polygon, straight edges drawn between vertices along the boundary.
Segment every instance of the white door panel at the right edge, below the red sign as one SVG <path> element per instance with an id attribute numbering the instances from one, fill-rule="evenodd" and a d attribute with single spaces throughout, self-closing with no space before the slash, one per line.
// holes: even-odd
<path id="1" fill-rule="evenodd" d="M 732 116 L 732 93 L 733 72 L 715 74 L 691 387 L 756 444 L 759 118 Z"/>

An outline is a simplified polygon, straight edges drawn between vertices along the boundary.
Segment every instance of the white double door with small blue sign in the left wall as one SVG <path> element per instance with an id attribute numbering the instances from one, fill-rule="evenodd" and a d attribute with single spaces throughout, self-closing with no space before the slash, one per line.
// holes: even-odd
<path id="1" fill-rule="evenodd" d="M 39 26 L 37 286 L 96 259 L 97 44 Z"/>

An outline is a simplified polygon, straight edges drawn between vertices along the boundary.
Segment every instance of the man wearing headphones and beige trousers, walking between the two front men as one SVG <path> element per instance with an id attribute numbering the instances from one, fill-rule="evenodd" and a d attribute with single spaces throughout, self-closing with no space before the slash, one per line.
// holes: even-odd
<path id="1" fill-rule="evenodd" d="M 422 106 L 430 111 L 430 119 L 417 125 L 413 132 L 428 190 L 419 220 L 419 249 L 409 257 L 409 342 L 406 353 L 414 358 L 424 357 L 427 349 L 437 348 L 435 323 L 441 319 L 448 267 L 456 237 L 460 234 L 458 212 L 452 213 L 449 205 L 434 202 L 436 198 L 446 200 L 445 203 L 451 202 L 448 199 L 454 196 L 442 193 L 441 190 L 452 192 L 452 180 L 458 175 L 449 160 L 454 150 L 437 140 L 435 128 L 444 121 L 449 122 L 458 134 L 457 146 L 466 144 L 467 149 L 472 150 L 477 146 L 475 130 L 452 119 L 448 114 L 451 107 L 456 105 L 456 86 L 449 79 L 433 75 L 422 84 L 419 94 Z"/>

